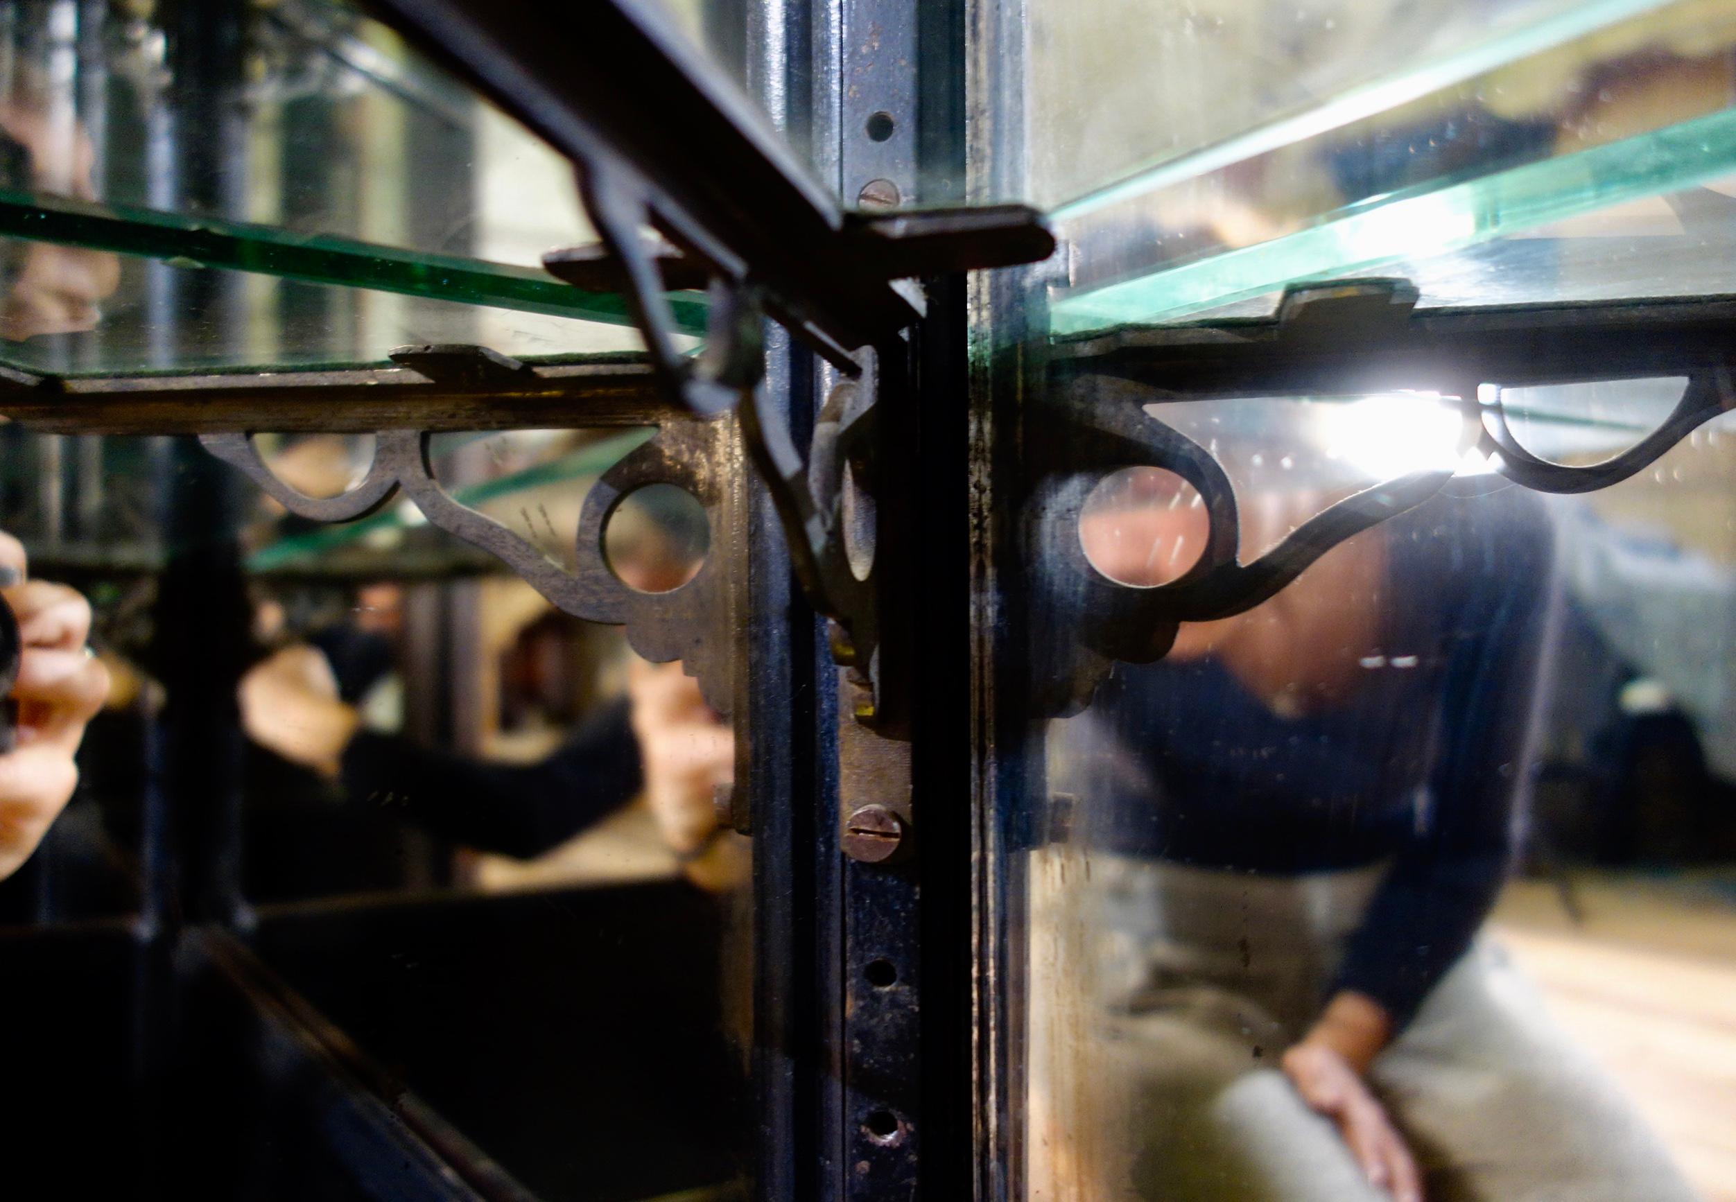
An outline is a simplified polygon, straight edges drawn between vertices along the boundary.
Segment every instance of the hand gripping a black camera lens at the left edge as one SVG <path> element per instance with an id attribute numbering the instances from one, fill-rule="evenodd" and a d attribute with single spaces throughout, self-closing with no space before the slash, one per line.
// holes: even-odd
<path id="1" fill-rule="evenodd" d="M 24 578 L 24 547 L 0 533 L 0 565 Z M 73 752 L 108 697 L 108 669 L 92 658 L 90 604 L 73 589 L 30 580 L 5 591 L 21 655 L 12 697 L 17 745 L 0 756 L 0 879 L 36 849 L 78 785 Z"/>

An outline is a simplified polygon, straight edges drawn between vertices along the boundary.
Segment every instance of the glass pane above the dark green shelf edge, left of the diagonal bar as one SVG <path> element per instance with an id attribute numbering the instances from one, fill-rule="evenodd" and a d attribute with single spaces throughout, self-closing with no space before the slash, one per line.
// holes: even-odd
<path id="1" fill-rule="evenodd" d="M 528 267 L 589 240 L 561 156 L 349 5 L 142 12 L 0 5 L 9 188 Z"/>

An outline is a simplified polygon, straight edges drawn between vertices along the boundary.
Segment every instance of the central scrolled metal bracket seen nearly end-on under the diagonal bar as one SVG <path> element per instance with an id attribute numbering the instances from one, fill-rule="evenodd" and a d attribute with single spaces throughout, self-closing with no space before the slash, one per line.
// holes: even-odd
<path id="1" fill-rule="evenodd" d="M 996 266 L 1047 255 L 1054 241 L 1035 214 L 1019 207 L 930 210 L 842 219 L 837 247 L 863 295 L 882 302 L 866 316 L 806 309 L 788 288 L 762 287 L 722 247 L 682 231 L 658 193 L 632 170 L 608 160 L 582 170 L 585 201 L 602 236 L 602 254 L 554 252 L 545 266 L 582 287 L 621 287 L 646 337 L 665 394 L 700 415 L 736 408 L 743 443 L 783 525 L 795 577 L 809 603 L 833 618 L 832 650 L 868 690 L 861 721 L 898 728 L 901 650 L 887 650 L 882 591 L 889 573 L 871 551 L 877 514 L 880 413 L 906 386 L 908 346 L 898 332 L 922 309 L 920 290 L 898 276 Z M 674 241 L 646 236 L 660 229 Z M 682 243 L 682 245 L 675 245 Z M 710 280 L 710 318 L 698 354 L 677 349 L 677 327 L 665 288 Z M 887 290 L 889 281 L 894 285 Z M 771 398 L 757 387 L 762 327 L 776 318 L 828 360 L 844 382 L 821 412 L 807 453 L 795 445 Z M 856 347 L 854 351 L 849 347 Z"/>

